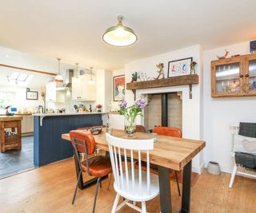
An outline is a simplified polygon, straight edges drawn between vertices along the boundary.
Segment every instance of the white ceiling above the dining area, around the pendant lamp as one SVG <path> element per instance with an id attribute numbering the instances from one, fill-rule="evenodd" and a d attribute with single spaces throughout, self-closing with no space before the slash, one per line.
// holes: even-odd
<path id="1" fill-rule="evenodd" d="M 8 0 L 0 8 L 0 45 L 104 69 L 190 45 L 256 38 L 255 0 Z M 135 45 L 102 41 L 119 14 L 138 35 Z"/>

